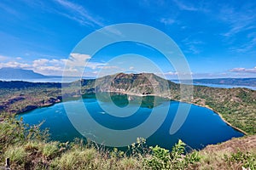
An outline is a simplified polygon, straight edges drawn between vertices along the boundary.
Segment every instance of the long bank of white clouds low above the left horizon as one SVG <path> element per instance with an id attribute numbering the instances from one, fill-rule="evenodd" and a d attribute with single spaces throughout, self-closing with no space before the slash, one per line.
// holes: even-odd
<path id="1" fill-rule="evenodd" d="M 21 58 L 13 58 L 11 61 L 9 59 L 10 58 L 8 57 L 0 55 L 0 60 L 2 61 L 0 63 L 0 68 L 22 68 L 44 75 L 62 75 L 63 71 L 65 71 L 65 75 L 67 76 L 81 76 L 84 73 L 88 75 L 89 72 L 95 74 L 93 72 L 96 72 L 99 69 L 117 70 L 119 68 L 115 65 L 92 62 L 90 61 L 91 57 L 88 54 L 70 54 L 69 59 L 35 59 L 30 63 L 22 62 Z"/>

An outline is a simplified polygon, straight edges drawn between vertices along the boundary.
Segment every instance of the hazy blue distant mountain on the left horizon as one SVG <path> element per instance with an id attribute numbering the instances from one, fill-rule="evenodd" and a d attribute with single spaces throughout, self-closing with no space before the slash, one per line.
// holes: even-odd
<path id="1" fill-rule="evenodd" d="M 42 74 L 30 70 L 23 70 L 19 68 L 4 67 L 0 69 L 0 79 L 33 79 L 33 78 L 47 78 Z"/>

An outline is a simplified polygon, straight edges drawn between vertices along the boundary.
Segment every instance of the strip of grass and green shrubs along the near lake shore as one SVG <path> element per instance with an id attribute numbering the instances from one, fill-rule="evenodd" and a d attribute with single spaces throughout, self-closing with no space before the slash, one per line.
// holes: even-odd
<path id="1" fill-rule="evenodd" d="M 184 155 L 181 140 L 172 151 L 146 147 L 144 139 L 126 150 L 107 150 L 82 140 L 48 141 L 39 126 L 27 127 L 6 117 L 0 123 L 0 168 L 10 158 L 12 169 L 241 169 L 256 168 L 256 135 Z M 229 145 L 231 148 L 226 147 Z M 212 148 L 213 147 L 213 148 Z"/>

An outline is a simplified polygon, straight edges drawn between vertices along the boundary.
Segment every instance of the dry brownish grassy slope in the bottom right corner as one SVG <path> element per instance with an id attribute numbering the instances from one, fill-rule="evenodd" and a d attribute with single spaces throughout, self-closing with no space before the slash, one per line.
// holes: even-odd
<path id="1" fill-rule="evenodd" d="M 196 169 L 256 169 L 256 135 L 231 139 L 222 144 L 208 145 L 200 150 L 201 161 Z"/>

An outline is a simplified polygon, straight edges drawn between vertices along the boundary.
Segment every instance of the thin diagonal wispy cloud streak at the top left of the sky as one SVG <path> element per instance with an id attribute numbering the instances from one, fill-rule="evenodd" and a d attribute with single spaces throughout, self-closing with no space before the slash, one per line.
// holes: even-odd
<path id="1" fill-rule="evenodd" d="M 96 20 L 96 16 L 92 16 L 83 6 L 77 3 L 72 3 L 67 0 L 55 0 L 55 2 L 67 8 L 68 13 L 61 11 L 59 14 L 62 14 L 68 19 L 75 20 L 82 25 L 104 26 L 101 21 Z"/>

